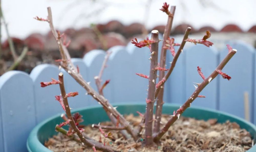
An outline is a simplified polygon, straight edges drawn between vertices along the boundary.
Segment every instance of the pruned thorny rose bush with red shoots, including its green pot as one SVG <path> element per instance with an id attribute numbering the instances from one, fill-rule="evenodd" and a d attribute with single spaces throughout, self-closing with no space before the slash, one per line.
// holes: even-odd
<path id="1" fill-rule="evenodd" d="M 74 111 L 73 114 L 71 113 L 71 109 L 69 107 L 68 98 L 74 97 L 78 95 L 78 92 L 70 92 L 67 93 L 65 91 L 64 81 L 63 81 L 63 73 L 59 73 L 58 80 L 52 79 L 50 82 L 41 82 L 41 87 L 46 87 L 49 85 L 59 85 L 61 95 L 56 95 L 56 100 L 59 101 L 60 105 L 62 106 L 65 114 L 62 114 L 61 117 L 55 116 L 53 118 L 50 118 L 49 120 L 46 120 L 45 122 L 42 122 L 39 124 L 30 134 L 30 137 L 27 142 L 27 147 L 29 151 L 47 151 L 48 149 L 44 147 L 41 143 L 47 140 L 51 135 L 54 134 L 55 130 L 57 132 L 62 133 L 66 138 L 69 138 L 73 141 L 76 141 L 80 144 L 80 146 L 83 146 L 84 148 L 89 148 L 93 151 L 101 150 L 101 151 L 125 151 L 125 150 L 131 150 L 131 149 L 139 149 L 138 151 L 144 150 L 144 151 L 155 151 L 155 150 L 162 150 L 162 151 L 175 151 L 177 150 L 174 148 L 175 146 L 167 146 L 170 143 L 173 143 L 175 140 L 178 141 L 178 136 L 174 138 L 174 132 L 178 132 L 179 129 L 177 128 L 171 128 L 171 126 L 174 126 L 180 123 L 182 123 L 182 126 L 188 126 L 188 124 L 191 124 L 192 122 L 190 120 L 187 120 L 186 118 L 181 118 L 181 115 L 186 117 L 194 117 L 197 119 L 204 119 L 208 120 L 208 123 L 210 125 L 215 125 L 218 122 L 225 122 L 226 120 L 236 122 L 236 123 L 230 123 L 226 122 L 226 125 L 231 127 L 230 129 L 239 130 L 240 127 L 244 128 L 246 130 L 239 130 L 238 135 L 240 136 L 239 140 L 242 142 L 235 142 L 236 146 L 240 148 L 240 150 L 249 149 L 255 150 L 256 147 L 253 146 L 253 140 L 255 140 L 255 134 L 256 129 L 255 126 L 253 126 L 251 123 L 243 121 L 240 118 L 237 118 L 235 116 L 231 116 L 229 114 L 216 112 L 212 110 L 206 110 L 206 109 L 200 109 L 200 108 L 189 108 L 191 103 L 196 98 L 205 98 L 204 95 L 201 95 L 200 92 L 212 81 L 217 75 L 221 75 L 224 79 L 230 80 L 231 77 L 224 72 L 222 72 L 223 67 L 228 63 L 228 61 L 233 57 L 233 55 L 237 52 L 236 49 L 233 49 L 230 45 L 227 45 L 228 51 L 227 56 L 222 59 L 220 64 L 216 67 L 216 69 L 212 72 L 211 75 L 208 77 L 205 77 L 203 74 L 203 70 L 198 66 L 197 71 L 200 77 L 202 77 L 202 82 L 195 83 L 195 91 L 191 94 L 191 96 L 187 99 L 186 102 L 182 106 L 176 106 L 176 105 L 166 105 L 163 106 L 163 92 L 164 92 L 164 84 L 166 80 L 169 78 L 169 76 L 172 74 L 172 71 L 175 67 L 175 64 L 178 60 L 179 55 L 182 53 L 183 48 L 186 44 L 186 42 L 191 42 L 194 44 L 202 44 L 206 47 L 210 47 L 213 45 L 212 42 L 208 41 L 207 39 L 210 38 L 211 33 L 209 30 L 206 31 L 206 34 L 203 36 L 202 39 L 191 39 L 188 37 L 189 32 L 191 30 L 190 27 L 187 28 L 184 34 L 184 38 L 181 42 L 181 44 L 174 43 L 174 39 L 170 38 L 170 31 L 172 27 L 174 12 L 175 12 L 175 6 L 170 7 L 167 3 L 164 3 L 161 11 L 165 12 L 168 16 L 168 21 L 166 24 L 166 29 L 164 32 L 163 37 L 163 46 L 161 48 L 161 52 L 158 52 L 158 43 L 160 41 L 158 37 L 158 31 L 153 30 L 151 32 L 151 39 L 146 37 L 146 39 L 138 42 L 136 38 L 132 40 L 132 44 L 134 44 L 136 47 L 148 47 L 150 50 L 150 75 L 144 75 L 140 73 L 136 73 L 138 76 L 141 76 L 148 80 L 148 94 L 146 98 L 146 111 L 145 114 L 141 114 L 138 111 L 143 112 L 145 109 L 145 105 L 143 104 L 126 104 L 126 105 L 119 105 L 119 110 L 116 109 L 116 107 L 112 106 L 107 99 L 104 98 L 103 95 L 103 89 L 104 87 L 109 83 L 109 80 L 105 81 L 103 85 L 101 85 L 101 75 L 103 73 L 105 64 L 108 60 L 109 54 L 106 54 L 106 58 L 103 62 L 100 74 L 98 76 L 95 76 L 95 82 L 97 84 L 98 92 L 95 91 L 86 80 L 82 78 L 82 76 L 79 73 L 79 68 L 75 67 L 73 63 L 70 60 L 70 55 L 68 53 L 68 50 L 66 48 L 66 43 L 62 41 L 62 37 L 64 34 L 61 34 L 59 31 L 56 31 L 53 25 L 52 21 L 52 14 L 51 14 L 51 8 L 48 7 L 48 18 L 42 19 L 39 17 L 36 17 L 35 19 L 40 21 L 46 21 L 50 25 L 50 29 L 52 31 L 52 34 L 54 35 L 56 42 L 58 44 L 60 54 L 62 59 L 58 60 L 60 66 L 67 71 L 68 74 L 70 74 L 86 91 L 89 95 L 91 95 L 95 101 L 97 101 L 102 107 L 90 107 L 90 108 L 84 108 L 77 111 Z M 179 46 L 179 49 L 175 52 L 174 46 Z M 169 50 L 172 53 L 173 61 L 169 68 L 166 67 L 166 51 Z M 159 64 L 158 64 L 158 53 L 161 53 Z M 165 72 L 166 71 L 166 72 Z M 159 73 L 159 80 L 157 82 L 157 74 Z M 155 116 L 154 114 L 154 103 L 156 103 L 155 107 Z M 173 111 L 173 112 L 171 112 Z M 105 115 L 103 115 L 103 112 L 105 112 Z M 82 116 L 86 117 L 88 114 L 90 115 L 96 115 L 101 114 L 100 118 L 96 117 L 90 117 L 86 118 L 86 121 L 83 121 Z M 135 122 L 130 123 L 122 114 L 136 114 L 138 113 L 140 115 L 141 121 L 140 123 Z M 171 114 L 171 116 L 164 116 L 164 114 Z M 63 119 L 61 123 L 59 123 Z M 182 121 L 176 122 L 178 119 L 183 119 Z M 100 125 L 96 124 L 98 122 L 110 120 L 112 125 Z M 163 122 L 163 120 L 165 120 Z M 82 123 L 83 122 L 83 123 Z M 176 123 L 175 123 L 176 122 Z M 163 124 L 161 124 L 163 123 Z M 202 122 L 205 123 L 205 122 Z M 101 136 L 99 140 L 95 140 L 92 137 L 88 135 L 87 129 L 84 128 L 81 124 L 92 124 L 91 128 L 98 129 L 97 132 L 101 134 L 101 136 L 107 140 L 102 140 Z M 196 124 L 196 123 L 195 123 Z M 240 125 L 240 127 L 239 127 Z M 49 127 L 55 126 L 54 128 Z M 136 126 L 136 127 L 134 127 Z M 211 128 L 209 125 L 204 125 L 204 129 Z M 68 128 L 65 128 L 68 127 Z M 212 127 L 215 128 L 215 127 Z M 68 130 L 66 130 L 68 129 Z M 186 130 L 186 127 L 182 128 L 182 130 Z M 203 129 L 203 130 L 204 130 Z M 201 130 L 203 132 L 203 130 Z M 220 129 L 221 130 L 221 129 Z M 113 132 L 118 132 L 122 135 L 120 139 L 116 139 L 113 137 Z M 87 132 L 87 133 L 86 133 Z M 108 132 L 108 133 L 107 133 Z M 192 133 L 193 134 L 193 133 Z M 198 135 L 200 132 L 198 132 Z M 182 133 L 180 134 L 182 135 Z M 211 137 L 221 137 L 221 135 L 216 131 L 213 130 L 207 135 Z M 253 138 L 253 140 L 251 139 Z M 196 138 L 196 139 L 195 139 Z M 201 142 L 201 147 L 193 146 L 193 144 L 187 143 L 187 145 L 183 145 L 183 150 L 179 149 L 177 151 L 186 151 L 189 148 L 194 148 L 197 150 L 231 150 L 228 146 L 233 142 L 230 143 L 224 143 L 221 145 L 215 146 L 215 149 L 213 147 L 209 147 L 210 141 L 200 141 L 198 137 L 193 138 L 194 140 L 191 140 L 190 142 Z M 125 139 L 126 141 L 123 142 L 123 144 L 120 144 L 118 146 L 117 141 L 120 141 L 121 139 Z M 188 137 L 185 137 L 182 142 L 186 142 L 189 140 Z M 218 140 L 218 139 L 217 139 Z M 107 142 L 106 142 L 107 141 Z M 41 143 L 40 143 L 41 142 Z M 113 142 L 115 144 L 113 144 Z M 125 143 L 125 144 L 124 144 Z M 240 145 L 237 145 L 239 144 Z M 180 142 L 176 142 L 176 144 L 180 144 Z M 250 146 L 248 146 L 250 145 Z M 180 147 L 179 145 L 178 147 Z M 234 145 L 231 145 L 231 148 L 233 148 Z M 246 147 L 247 146 L 247 147 Z M 228 148 L 227 148 L 228 147 Z M 226 148 L 226 149 L 224 149 Z M 237 147 L 236 147 L 237 148 Z M 86 149 L 88 150 L 88 149 Z M 191 150 L 191 149 L 190 149 Z M 233 149 L 234 150 L 234 149 Z"/>

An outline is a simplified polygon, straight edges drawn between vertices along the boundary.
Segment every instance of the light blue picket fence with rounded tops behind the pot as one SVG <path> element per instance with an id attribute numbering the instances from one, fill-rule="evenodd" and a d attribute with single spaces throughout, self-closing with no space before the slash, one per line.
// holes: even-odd
<path id="1" fill-rule="evenodd" d="M 162 43 L 161 43 L 162 44 Z M 161 47 L 160 44 L 160 47 Z M 202 106 L 218 109 L 244 118 L 244 92 L 249 93 L 250 120 L 256 123 L 254 90 L 255 50 L 242 42 L 230 44 L 237 49 L 236 55 L 223 69 L 232 79 L 218 76 L 200 94 L 191 106 Z M 177 49 L 176 49 L 177 50 Z M 150 51 L 148 48 L 137 48 L 129 44 L 115 46 L 103 80 L 111 79 L 104 89 L 105 97 L 111 103 L 145 102 L 148 81 L 135 73 L 148 74 Z M 201 82 L 197 66 L 202 67 L 205 76 L 210 75 L 219 62 L 226 56 L 225 46 L 217 50 L 202 45 L 188 44 L 180 55 L 176 67 L 165 84 L 164 101 L 182 104 L 194 91 L 193 82 Z M 96 89 L 94 76 L 98 75 L 105 52 L 93 50 L 83 59 L 72 59 L 78 65 L 80 73 Z M 167 53 L 167 67 L 172 62 L 172 55 Z M 78 91 L 79 95 L 69 98 L 70 107 L 81 108 L 98 104 L 86 91 L 62 69 L 55 65 L 36 66 L 30 75 L 20 71 L 10 71 L 0 77 L 0 151 L 26 151 L 26 139 L 29 132 L 42 120 L 62 112 L 55 95 L 60 94 L 59 87 L 41 88 L 40 82 L 57 79 L 59 72 L 64 73 L 66 91 Z"/>

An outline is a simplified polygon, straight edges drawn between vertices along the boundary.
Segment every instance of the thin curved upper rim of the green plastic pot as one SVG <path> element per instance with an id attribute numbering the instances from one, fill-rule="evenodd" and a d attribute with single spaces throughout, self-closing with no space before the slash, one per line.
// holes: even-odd
<path id="1" fill-rule="evenodd" d="M 138 106 L 145 106 L 146 104 L 143 103 L 116 103 L 113 104 L 113 106 L 129 106 L 129 105 L 138 105 Z M 165 103 L 164 106 L 172 106 L 172 107 L 180 107 L 180 104 L 172 104 L 172 103 Z M 88 107 L 83 107 L 83 108 L 78 108 L 76 110 L 73 110 L 72 113 L 76 113 L 79 112 L 81 110 L 86 110 L 86 109 L 92 109 L 92 108 L 99 108 L 102 107 L 101 105 L 96 105 L 96 106 L 88 106 Z M 212 112 L 212 113 L 218 113 L 220 115 L 226 115 L 228 117 L 232 117 L 234 119 L 236 119 L 237 121 L 241 121 L 242 123 L 248 125 L 249 127 L 251 127 L 255 132 L 256 132 L 256 126 L 253 125 L 251 122 L 246 121 L 238 116 L 226 113 L 226 112 L 221 112 L 219 110 L 214 110 L 214 109 L 209 109 L 209 108 L 202 108 L 202 107 L 197 107 L 197 106 L 193 106 L 193 107 L 189 107 L 189 109 L 194 109 L 194 110 L 202 110 L 202 111 L 207 111 L 207 112 Z M 37 151 L 44 151 L 44 152 L 50 152 L 51 150 L 49 150 L 48 148 L 46 148 L 39 140 L 37 137 L 38 131 L 39 129 L 44 126 L 47 122 L 52 121 L 53 119 L 56 119 L 57 117 L 60 117 L 61 114 L 56 114 L 40 123 L 38 123 L 36 125 L 36 127 L 33 128 L 33 130 L 30 132 L 28 139 L 27 139 L 27 150 L 29 152 L 32 152 L 30 146 L 33 145 L 34 147 L 37 147 Z M 253 140 L 255 141 L 255 137 L 253 138 Z M 254 142 L 255 143 L 255 142 Z M 247 152 L 254 152 L 256 151 L 256 144 L 250 148 L 249 150 L 247 150 Z"/>

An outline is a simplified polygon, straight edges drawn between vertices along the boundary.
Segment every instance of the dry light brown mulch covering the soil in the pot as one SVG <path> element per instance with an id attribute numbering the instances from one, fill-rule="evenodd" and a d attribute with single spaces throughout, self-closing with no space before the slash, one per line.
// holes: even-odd
<path id="1" fill-rule="evenodd" d="M 140 117 L 132 114 L 125 116 L 126 120 L 137 127 L 141 121 Z M 169 116 L 162 117 L 162 123 L 165 124 Z M 111 126 L 111 122 L 100 123 L 104 126 Z M 194 118 L 180 117 L 168 130 L 162 140 L 161 145 L 154 145 L 151 148 L 144 146 L 144 129 L 142 138 L 136 143 L 133 139 L 125 140 L 118 131 L 111 131 L 112 139 L 104 138 L 100 131 L 92 126 L 86 126 L 87 136 L 96 141 L 105 142 L 106 145 L 114 146 L 118 151 L 136 152 L 136 151 L 246 151 L 253 145 L 251 135 L 245 129 L 241 129 L 235 122 L 226 121 L 217 123 L 217 119 L 208 121 L 196 120 Z M 109 131 L 105 131 L 109 133 Z M 81 143 L 70 140 L 69 137 L 59 133 L 49 138 L 45 146 L 52 151 L 93 151 L 91 147 L 84 147 Z M 98 151 L 98 150 L 97 150 Z"/>

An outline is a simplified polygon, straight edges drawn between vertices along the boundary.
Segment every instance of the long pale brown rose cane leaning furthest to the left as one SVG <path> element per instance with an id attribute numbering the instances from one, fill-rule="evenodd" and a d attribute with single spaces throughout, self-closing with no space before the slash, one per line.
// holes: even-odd
<path id="1" fill-rule="evenodd" d="M 59 47 L 59 51 L 62 58 L 61 66 L 65 71 L 67 71 L 77 82 L 80 84 L 88 94 L 93 96 L 93 98 L 98 101 L 99 104 L 101 104 L 103 107 L 108 108 L 108 111 L 115 117 L 119 117 L 120 124 L 123 127 L 126 127 L 127 132 L 133 137 L 134 141 L 137 140 L 138 136 L 137 133 L 133 130 L 132 126 L 129 125 L 129 123 L 125 120 L 125 118 L 108 102 L 107 99 L 105 99 L 102 95 L 97 93 L 78 73 L 77 68 L 73 65 L 73 63 L 70 61 L 70 55 L 68 53 L 68 50 L 65 45 L 61 42 L 61 36 L 58 34 L 54 28 L 53 22 L 52 22 L 52 13 L 51 8 L 48 7 L 48 19 L 44 21 L 47 21 L 50 25 L 50 29 L 52 31 L 52 34 L 56 38 L 56 42 Z"/>

